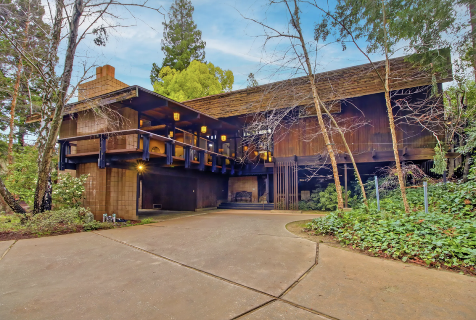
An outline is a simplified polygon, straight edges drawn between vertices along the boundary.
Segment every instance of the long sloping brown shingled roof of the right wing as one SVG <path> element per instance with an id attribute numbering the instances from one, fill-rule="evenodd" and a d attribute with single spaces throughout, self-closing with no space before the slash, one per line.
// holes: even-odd
<path id="1" fill-rule="evenodd" d="M 451 62 L 449 74 L 436 75 L 438 83 L 452 81 Z M 407 89 L 432 83 L 432 75 L 420 71 L 404 57 L 390 61 L 390 89 Z M 375 62 L 381 74 L 384 61 Z M 371 64 L 315 74 L 317 90 L 324 102 L 336 101 L 383 92 L 383 85 Z M 308 77 L 299 77 L 266 85 L 227 92 L 219 95 L 189 100 L 185 105 L 214 117 L 229 117 L 267 111 L 274 108 L 313 105 Z"/>

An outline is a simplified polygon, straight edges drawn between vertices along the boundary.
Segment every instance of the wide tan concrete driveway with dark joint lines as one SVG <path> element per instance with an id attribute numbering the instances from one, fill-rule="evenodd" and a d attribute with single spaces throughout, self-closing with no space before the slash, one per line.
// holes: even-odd
<path id="1" fill-rule="evenodd" d="M 227 211 L 0 242 L 0 319 L 476 319 L 474 277 L 285 228 L 313 217 Z"/>

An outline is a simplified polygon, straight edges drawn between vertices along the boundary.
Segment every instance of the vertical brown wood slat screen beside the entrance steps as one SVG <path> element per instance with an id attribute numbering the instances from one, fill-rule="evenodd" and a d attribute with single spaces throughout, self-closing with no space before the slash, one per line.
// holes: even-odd
<path id="1" fill-rule="evenodd" d="M 274 209 L 297 210 L 297 163 L 277 162 L 274 167 Z"/>

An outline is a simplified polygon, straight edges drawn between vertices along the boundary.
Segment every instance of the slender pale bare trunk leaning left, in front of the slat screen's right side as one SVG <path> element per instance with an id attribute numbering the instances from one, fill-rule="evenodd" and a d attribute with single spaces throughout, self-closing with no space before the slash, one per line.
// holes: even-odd
<path id="1" fill-rule="evenodd" d="M 291 10 L 290 10 L 291 11 Z M 313 71 L 311 67 L 311 63 L 309 60 L 309 55 L 307 53 L 306 49 L 306 43 L 304 41 L 304 37 L 302 35 L 301 27 L 300 27 L 300 22 L 299 22 L 299 8 L 297 7 L 296 1 L 295 1 L 295 11 L 294 11 L 294 16 L 293 12 L 291 13 L 291 19 L 293 21 L 294 27 L 299 34 L 299 40 L 301 43 L 302 47 L 302 52 L 304 54 L 304 59 L 305 59 L 305 65 L 307 67 L 307 76 L 309 77 L 309 82 L 311 85 L 312 89 L 312 96 L 314 98 L 314 106 L 316 108 L 316 113 L 317 113 L 317 119 L 319 121 L 319 126 L 322 130 L 322 135 L 324 137 L 324 141 L 326 143 L 327 151 L 329 153 L 329 158 L 331 160 L 332 164 L 332 171 L 334 174 L 334 182 L 336 184 L 336 191 L 337 191 L 337 210 L 343 210 L 344 209 L 344 199 L 342 198 L 342 188 L 341 188 L 341 182 L 339 181 L 339 171 L 337 168 L 337 161 L 336 161 L 336 156 L 334 154 L 334 149 L 331 145 L 329 135 L 327 134 L 327 129 L 326 125 L 324 123 L 324 119 L 322 118 L 322 112 L 321 112 L 321 106 L 325 107 L 324 104 L 322 103 L 319 94 L 317 93 L 317 88 L 316 88 L 316 83 L 315 79 L 313 76 Z"/>

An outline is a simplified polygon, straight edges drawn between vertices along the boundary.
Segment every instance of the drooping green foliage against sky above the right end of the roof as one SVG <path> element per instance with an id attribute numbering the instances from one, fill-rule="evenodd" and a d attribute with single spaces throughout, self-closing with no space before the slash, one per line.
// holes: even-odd
<path id="1" fill-rule="evenodd" d="M 384 53 L 385 47 L 392 52 L 401 41 L 409 42 L 408 50 L 423 53 L 441 44 L 442 33 L 455 19 L 452 8 L 452 0 L 339 0 L 335 10 L 339 22 L 331 24 L 338 29 L 344 49 L 352 34 L 366 41 L 367 53 Z M 316 25 L 317 39 L 329 34 L 327 20 Z"/>

